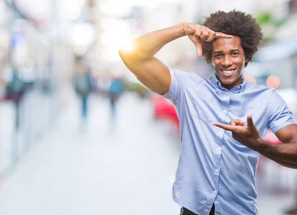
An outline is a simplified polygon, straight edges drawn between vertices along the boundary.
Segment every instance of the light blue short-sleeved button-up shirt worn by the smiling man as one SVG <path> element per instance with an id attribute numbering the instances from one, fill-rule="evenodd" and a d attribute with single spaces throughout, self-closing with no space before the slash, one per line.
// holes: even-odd
<path id="1" fill-rule="evenodd" d="M 171 86 L 163 96 L 174 104 L 181 134 L 181 153 L 173 185 L 173 199 L 198 215 L 257 215 L 255 173 L 260 154 L 232 138 L 229 125 L 247 115 L 261 138 L 294 124 L 292 112 L 272 87 L 261 88 L 243 79 L 228 90 L 216 76 L 169 68 Z"/>

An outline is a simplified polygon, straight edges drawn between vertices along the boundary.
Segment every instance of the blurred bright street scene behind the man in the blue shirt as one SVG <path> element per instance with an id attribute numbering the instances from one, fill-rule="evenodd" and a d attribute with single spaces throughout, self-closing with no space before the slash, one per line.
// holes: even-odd
<path id="1" fill-rule="evenodd" d="M 178 215 L 175 109 L 118 50 L 232 9 L 264 32 L 247 81 L 275 87 L 297 119 L 297 0 L 0 0 L 0 215 Z M 213 74 L 187 37 L 156 57 Z M 260 215 L 297 215 L 296 170 L 261 156 L 256 182 Z"/>

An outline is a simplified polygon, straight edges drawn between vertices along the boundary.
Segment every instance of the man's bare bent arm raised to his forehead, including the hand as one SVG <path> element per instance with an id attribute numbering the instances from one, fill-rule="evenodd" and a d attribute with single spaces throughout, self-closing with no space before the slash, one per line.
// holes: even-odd
<path id="1" fill-rule="evenodd" d="M 186 36 L 195 43 L 197 56 L 202 55 L 201 43 L 214 38 L 232 38 L 230 35 L 216 33 L 209 28 L 194 23 L 181 23 L 169 28 L 145 34 L 131 44 L 124 45 L 119 54 L 127 68 L 149 90 L 158 94 L 169 91 L 171 77 L 167 66 L 154 55 L 167 43 Z"/>

